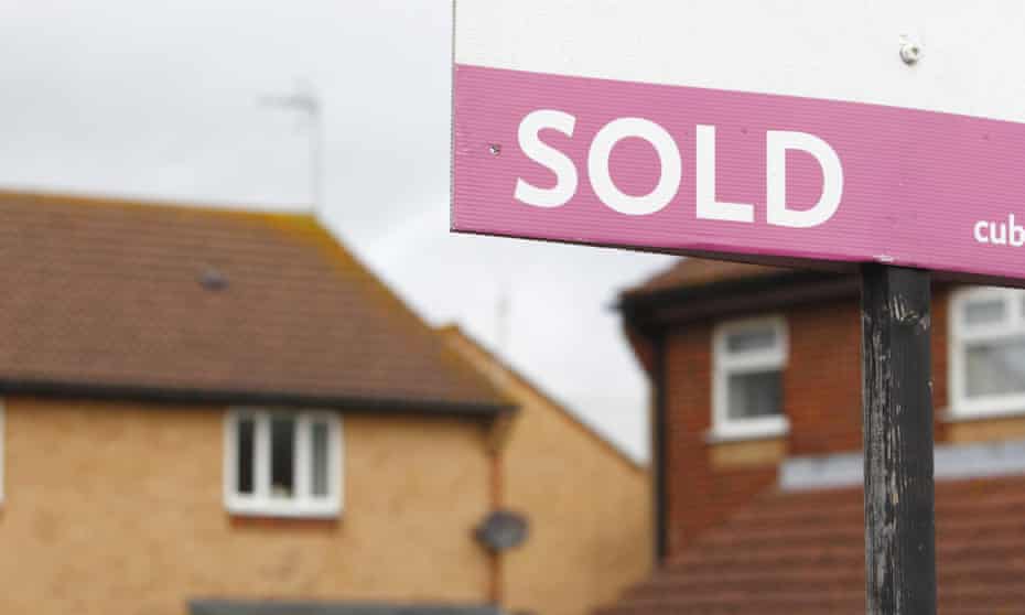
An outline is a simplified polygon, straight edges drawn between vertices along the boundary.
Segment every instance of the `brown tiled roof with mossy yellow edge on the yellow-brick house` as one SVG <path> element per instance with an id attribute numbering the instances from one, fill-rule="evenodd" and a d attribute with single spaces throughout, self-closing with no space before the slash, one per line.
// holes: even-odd
<path id="1" fill-rule="evenodd" d="M 0 385 L 490 413 L 309 215 L 0 192 Z"/>

